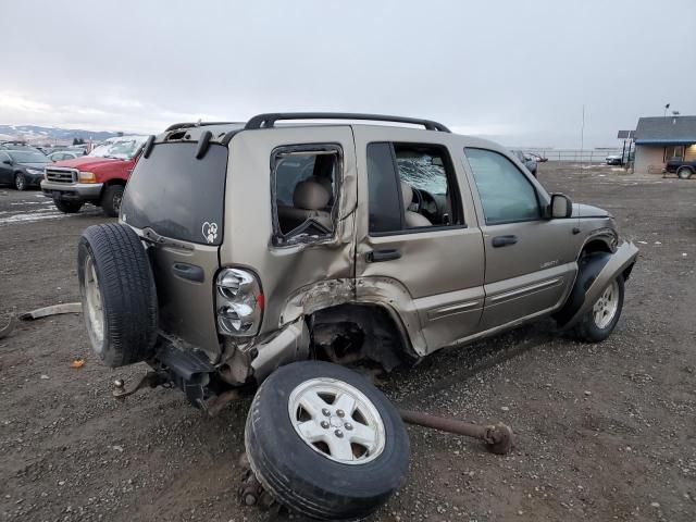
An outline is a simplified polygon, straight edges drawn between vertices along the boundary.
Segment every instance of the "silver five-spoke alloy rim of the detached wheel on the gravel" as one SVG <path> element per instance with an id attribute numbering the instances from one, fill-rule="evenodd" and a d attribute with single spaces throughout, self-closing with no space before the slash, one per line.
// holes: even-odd
<path id="1" fill-rule="evenodd" d="M 384 451 L 380 412 L 362 391 L 343 381 L 304 381 L 290 393 L 288 413 L 300 439 L 335 462 L 364 464 Z"/>

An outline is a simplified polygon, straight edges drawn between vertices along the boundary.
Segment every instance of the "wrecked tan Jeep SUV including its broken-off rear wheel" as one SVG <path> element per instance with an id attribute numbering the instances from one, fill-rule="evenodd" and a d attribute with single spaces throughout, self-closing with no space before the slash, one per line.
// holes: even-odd
<path id="1" fill-rule="evenodd" d="M 150 137 L 78 274 L 108 365 L 146 361 L 149 385 L 203 410 L 264 383 L 251 468 L 293 509 L 338 519 L 400 485 L 408 440 L 384 396 L 330 362 L 390 370 L 549 315 L 600 341 L 636 257 L 609 213 L 549 195 L 490 141 L 279 113 Z"/>

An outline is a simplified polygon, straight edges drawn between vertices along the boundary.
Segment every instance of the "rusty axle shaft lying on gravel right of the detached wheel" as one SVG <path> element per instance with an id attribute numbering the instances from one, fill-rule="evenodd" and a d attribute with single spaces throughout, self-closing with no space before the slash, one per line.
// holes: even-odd
<path id="1" fill-rule="evenodd" d="M 481 426 L 478 424 L 470 424 L 457 419 L 435 417 L 420 411 L 399 410 L 399 413 L 403 422 L 408 422 L 409 424 L 456 433 L 457 435 L 464 435 L 483 440 L 488 450 L 496 455 L 506 455 L 512 449 L 512 428 L 501 422 L 488 426 Z"/>

